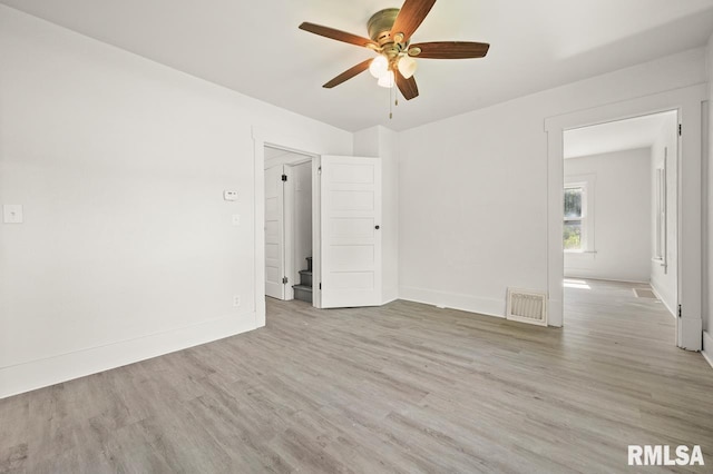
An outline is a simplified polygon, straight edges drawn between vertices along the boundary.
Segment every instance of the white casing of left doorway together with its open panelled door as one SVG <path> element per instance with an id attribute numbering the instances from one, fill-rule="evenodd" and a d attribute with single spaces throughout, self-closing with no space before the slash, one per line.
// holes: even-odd
<path id="1" fill-rule="evenodd" d="M 315 155 L 302 151 L 312 148 L 304 140 L 274 132 L 268 135 L 270 139 L 260 129 L 253 129 L 255 326 L 264 326 L 266 315 L 265 152 L 272 152 L 270 149 L 277 150 L 276 154 L 296 154 L 312 164 L 312 306 L 323 308 L 383 304 L 382 243 L 379 230 L 382 224 L 380 159 Z M 369 234 L 365 230 L 367 224 L 370 225 Z M 326 306 L 323 304 L 325 299 Z"/>

